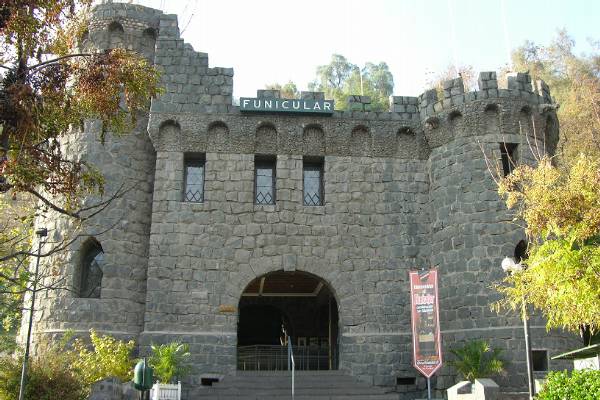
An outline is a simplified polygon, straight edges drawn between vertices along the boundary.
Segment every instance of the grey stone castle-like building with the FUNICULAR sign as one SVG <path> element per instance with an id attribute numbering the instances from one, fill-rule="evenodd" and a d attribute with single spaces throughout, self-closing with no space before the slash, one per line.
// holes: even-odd
<path id="1" fill-rule="evenodd" d="M 40 296 L 36 341 L 95 328 L 135 339 L 142 355 L 151 343 L 186 342 L 198 384 L 261 361 L 277 368 L 278 356 L 253 354 L 287 334 L 305 368 L 413 398 L 424 379 L 411 365 L 408 271 L 435 267 L 446 353 L 489 340 L 511 361 L 503 390 L 524 390 L 522 323 L 490 310 L 500 262 L 524 233 L 489 166 L 509 173 L 509 158 L 553 151 L 558 122 L 543 82 L 513 74 L 503 89 L 482 72 L 477 91 L 458 78 L 443 98 L 392 97 L 389 112 L 361 96 L 330 114 L 244 112 L 232 105 L 233 70 L 184 43 L 175 15 L 98 5 L 83 46 L 140 52 L 165 92 L 129 135 L 102 144 L 86 122 L 64 143 L 104 173 L 107 193 L 126 191 L 51 260 L 73 290 Z M 38 223 L 49 240 L 73 234 L 47 215 Z M 549 355 L 574 338 L 539 318 L 531 325 L 536 369 L 567 367 Z M 455 382 L 448 366 L 433 381 Z"/>

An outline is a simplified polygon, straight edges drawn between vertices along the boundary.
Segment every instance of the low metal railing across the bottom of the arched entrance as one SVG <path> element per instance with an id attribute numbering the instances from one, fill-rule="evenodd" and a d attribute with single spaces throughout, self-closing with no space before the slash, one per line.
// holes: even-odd
<path id="1" fill-rule="evenodd" d="M 293 350 L 297 370 L 329 369 L 329 346 L 295 346 Z M 239 370 L 285 371 L 289 369 L 288 364 L 290 361 L 287 346 L 238 346 L 237 351 L 237 367 Z M 333 354 L 334 360 L 335 356 Z M 333 365 L 335 365 L 335 362 Z"/>

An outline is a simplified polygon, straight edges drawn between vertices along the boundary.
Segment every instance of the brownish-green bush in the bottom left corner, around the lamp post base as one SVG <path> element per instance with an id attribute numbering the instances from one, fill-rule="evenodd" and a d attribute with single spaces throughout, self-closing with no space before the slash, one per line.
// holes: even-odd
<path id="1" fill-rule="evenodd" d="M 71 369 L 71 358 L 53 350 L 29 364 L 27 400 L 85 400 L 88 390 Z M 0 400 L 17 400 L 22 358 L 0 359 Z"/>

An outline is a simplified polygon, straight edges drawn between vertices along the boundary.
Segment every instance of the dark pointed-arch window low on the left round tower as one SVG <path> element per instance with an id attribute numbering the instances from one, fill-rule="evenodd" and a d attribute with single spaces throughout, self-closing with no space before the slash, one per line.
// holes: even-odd
<path id="1" fill-rule="evenodd" d="M 90 239 L 81 249 L 79 266 L 79 297 L 100 298 L 104 250 L 95 239 Z"/>

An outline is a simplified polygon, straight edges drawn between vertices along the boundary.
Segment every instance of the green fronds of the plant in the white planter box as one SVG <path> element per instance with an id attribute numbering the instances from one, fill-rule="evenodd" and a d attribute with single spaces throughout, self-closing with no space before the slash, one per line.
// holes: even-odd
<path id="1" fill-rule="evenodd" d="M 189 374 L 190 366 L 187 364 L 189 357 L 189 345 L 171 342 L 158 346 L 152 345 L 152 355 L 148 363 L 154 368 L 154 375 L 159 382 L 171 383 Z"/>

